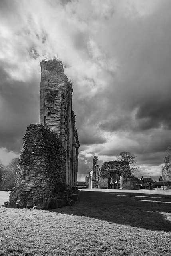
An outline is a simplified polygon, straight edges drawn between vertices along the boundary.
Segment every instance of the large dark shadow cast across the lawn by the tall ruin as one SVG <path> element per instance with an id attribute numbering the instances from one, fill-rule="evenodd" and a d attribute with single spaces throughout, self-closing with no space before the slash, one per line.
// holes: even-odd
<path id="1" fill-rule="evenodd" d="M 51 211 L 147 230 L 171 231 L 171 196 L 168 195 L 81 191 L 74 206 Z"/>

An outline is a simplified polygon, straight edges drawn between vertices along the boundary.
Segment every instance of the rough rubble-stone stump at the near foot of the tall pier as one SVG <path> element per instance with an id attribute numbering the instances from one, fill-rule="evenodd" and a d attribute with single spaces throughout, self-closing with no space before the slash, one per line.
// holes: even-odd
<path id="1" fill-rule="evenodd" d="M 41 124 L 28 126 L 8 207 L 48 208 L 52 196 L 65 189 L 66 150 L 60 138 Z"/>

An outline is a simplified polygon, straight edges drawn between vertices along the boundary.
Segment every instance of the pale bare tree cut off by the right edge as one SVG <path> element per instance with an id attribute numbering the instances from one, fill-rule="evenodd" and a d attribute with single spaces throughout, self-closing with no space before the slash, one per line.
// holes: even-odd
<path id="1" fill-rule="evenodd" d="M 171 180 L 171 146 L 166 149 L 166 155 L 164 157 L 164 165 L 161 169 L 163 181 Z"/>

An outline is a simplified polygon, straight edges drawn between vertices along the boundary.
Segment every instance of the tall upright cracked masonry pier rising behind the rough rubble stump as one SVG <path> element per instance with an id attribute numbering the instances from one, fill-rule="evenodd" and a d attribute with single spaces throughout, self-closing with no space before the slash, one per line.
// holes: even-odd
<path id="1" fill-rule="evenodd" d="M 66 187 L 76 187 L 79 142 L 72 111 L 72 84 L 64 74 L 62 61 L 43 61 L 40 66 L 40 124 L 61 138 L 66 149 Z"/>

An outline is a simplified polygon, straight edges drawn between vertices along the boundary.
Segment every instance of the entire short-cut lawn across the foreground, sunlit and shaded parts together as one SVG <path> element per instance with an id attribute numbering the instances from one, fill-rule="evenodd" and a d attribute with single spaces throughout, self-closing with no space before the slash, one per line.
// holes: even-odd
<path id="1" fill-rule="evenodd" d="M 0 256 L 7 255 L 171 255 L 171 195 L 84 190 L 71 207 L 0 207 Z"/>

